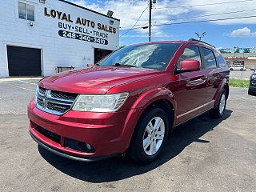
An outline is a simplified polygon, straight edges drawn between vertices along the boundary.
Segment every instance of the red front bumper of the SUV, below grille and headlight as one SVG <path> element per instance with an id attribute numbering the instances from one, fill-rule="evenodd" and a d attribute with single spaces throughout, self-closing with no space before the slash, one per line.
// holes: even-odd
<path id="1" fill-rule="evenodd" d="M 68 111 L 62 116 L 38 110 L 34 101 L 28 106 L 30 134 L 46 150 L 66 158 L 90 162 L 123 154 L 130 142 L 123 134 L 127 111 L 115 113 L 91 113 Z M 38 127 L 57 135 L 59 142 L 38 131 Z M 84 142 L 94 147 L 93 152 L 74 150 L 65 146 L 66 139 Z"/>

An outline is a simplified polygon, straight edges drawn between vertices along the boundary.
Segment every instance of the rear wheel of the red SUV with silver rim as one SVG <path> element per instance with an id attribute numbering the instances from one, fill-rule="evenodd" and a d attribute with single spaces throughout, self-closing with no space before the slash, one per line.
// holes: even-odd
<path id="1" fill-rule="evenodd" d="M 226 110 L 226 90 L 222 90 L 222 94 L 218 101 L 218 106 L 210 110 L 210 116 L 212 118 L 222 118 Z"/>

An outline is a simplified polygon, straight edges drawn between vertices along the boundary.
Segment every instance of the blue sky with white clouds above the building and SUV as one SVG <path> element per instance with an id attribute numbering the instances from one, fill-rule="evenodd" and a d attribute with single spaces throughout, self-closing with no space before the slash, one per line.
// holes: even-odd
<path id="1" fill-rule="evenodd" d="M 145 0 L 69 0 L 89 9 L 106 14 L 107 10 L 114 11 L 114 18 L 121 20 L 120 45 L 134 42 L 146 42 L 148 30 L 139 28 L 130 30 L 142 11 L 148 6 Z M 229 3 L 226 3 L 229 2 Z M 215 4 L 215 5 L 206 5 Z M 206 6 L 203 6 L 206 5 Z M 166 8 L 168 7 L 168 8 Z M 256 0 L 162 0 L 157 1 L 153 9 L 152 40 L 186 40 L 197 38 L 194 32 L 206 32 L 203 41 L 210 42 L 218 48 L 255 47 L 256 18 L 241 18 L 256 15 Z M 154 26 L 174 22 L 194 22 L 219 18 L 237 18 L 226 21 L 200 22 L 190 24 L 172 24 Z M 148 9 L 142 14 L 136 27 L 147 26 Z"/>

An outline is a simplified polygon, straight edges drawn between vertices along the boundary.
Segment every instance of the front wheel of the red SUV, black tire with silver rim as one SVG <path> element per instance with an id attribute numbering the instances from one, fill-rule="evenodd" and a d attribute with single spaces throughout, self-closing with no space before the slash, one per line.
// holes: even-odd
<path id="1" fill-rule="evenodd" d="M 128 157 L 135 162 L 146 164 L 153 162 L 166 144 L 169 122 L 166 112 L 151 107 L 139 120 L 130 142 Z"/>

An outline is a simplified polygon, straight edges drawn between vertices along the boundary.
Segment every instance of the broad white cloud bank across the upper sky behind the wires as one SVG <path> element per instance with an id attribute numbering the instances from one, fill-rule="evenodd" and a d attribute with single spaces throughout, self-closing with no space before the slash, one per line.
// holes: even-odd
<path id="1" fill-rule="evenodd" d="M 114 18 L 119 18 L 121 20 L 121 32 L 122 35 L 126 31 L 122 31 L 125 29 L 129 29 L 134 23 L 137 21 L 142 11 L 146 8 L 148 4 L 148 0 L 110 0 L 110 1 L 94 1 L 89 2 L 87 0 L 70 0 L 78 5 L 86 6 L 91 10 L 96 10 L 102 14 L 106 14 L 107 10 L 114 11 Z M 238 0 L 236 0 L 238 1 Z M 254 2 L 235 2 L 221 5 L 213 5 L 213 6 L 194 6 L 194 5 L 204 5 L 209 3 L 221 3 L 223 0 L 158 0 L 157 4 L 154 5 L 153 9 L 153 25 L 155 24 L 164 24 L 164 23 L 172 23 L 172 22 L 190 22 L 190 21 L 201 21 L 201 20 L 209 20 L 209 19 L 218 19 L 218 18 L 236 18 L 236 17 L 244 17 L 255 15 L 254 11 L 246 11 L 240 13 L 233 14 L 222 14 L 226 12 L 235 12 L 240 10 L 252 10 L 256 8 L 254 6 Z M 226 1 L 228 2 L 228 1 Z M 187 6 L 189 7 L 178 7 L 178 8 L 168 8 L 168 9 L 158 9 L 161 7 L 177 7 L 177 6 Z M 197 15 L 209 15 L 206 17 L 196 17 Z M 214 14 L 214 15 L 213 15 Z M 217 14 L 217 15 L 215 15 Z M 191 18 L 190 18 L 191 17 Z M 186 19 L 178 19 L 177 18 L 186 18 Z M 212 22 L 218 25 L 227 25 L 227 24 L 256 24 L 256 18 L 242 18 L 242 19 L 234 19 L 234 20 L 226 20 L 226 21 L 215 21 Z M 138 26 L 148 26 L 148 10 L 142 15 L 142 18 L 137 23 Z M 126 27 L 127 26 L 127 27 Z M 135 27 L 138 27 L 135 26 Z M 158 38 L 169 38 L 171 37 L 170 32 L 166 34 L 164 32 L 165 26 L 154 26 L 152 28 L 152 34 L 154 37 Z M 133 30 L 137 32 L 140 37 L 146 37 L 148 30 L 138 29 Z M 125 35 L 130 36 L 132 33 L 128 33 Z"/>

